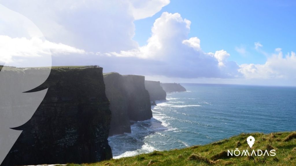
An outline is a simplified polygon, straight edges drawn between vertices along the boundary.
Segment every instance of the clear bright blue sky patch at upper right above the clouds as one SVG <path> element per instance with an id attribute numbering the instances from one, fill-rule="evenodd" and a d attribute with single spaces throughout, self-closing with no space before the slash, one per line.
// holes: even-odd
<path id="1" fill-rule="evenodd" d="M 238 64 L 263 64 L 266 56 L 254 49 L 260 42 L 267 52 L 282 48 L 295 50 L 296 1 L 201 1 L 171 0 L 153 17 L 136 20 L 135 36 L 140 45 L 147 44 L 155 19 L 163 12 L 180 13 L 191 21 L 189 37 L 198 37 L 205 52 L 226 50 L 229 60 Z M 245 55 L 236 51 L 244 48 Z"/>

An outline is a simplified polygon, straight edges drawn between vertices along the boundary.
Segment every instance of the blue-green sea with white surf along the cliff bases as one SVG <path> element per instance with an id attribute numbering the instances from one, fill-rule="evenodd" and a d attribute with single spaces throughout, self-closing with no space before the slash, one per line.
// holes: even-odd
<path id="1" fill-rule="evenodd" d="M 296 87 L 182 84 L 132 133 L 109 137 L 113 158 L 207 144 L 249 132 L 296 130 Z"/>

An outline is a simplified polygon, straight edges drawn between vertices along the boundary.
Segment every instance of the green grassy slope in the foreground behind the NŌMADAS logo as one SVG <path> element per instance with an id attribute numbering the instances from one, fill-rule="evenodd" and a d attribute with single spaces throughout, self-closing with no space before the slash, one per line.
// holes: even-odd
<path id="1" fill-rule="evenodd" d="M 263 156 L 255 156 L 256 165 L 289 165 L 296 164 L 296 132 L 280 132 L 280 133 L 252 133 L 240 134 L 229 139 L 213 142 L 202 146 L 193 146 L 184 149 L 173 149 L 169 151 L 155 151 L 148 154 L 139 154 L 133 157 L 124 157 L 120 159 L 105 160 L 92 164 L 67 164 L 67 166 L 149 166 L 149 165 L 255 165 L 251 157 L 247 156 L 227 156 L 227 149 L 235 150 L 239 148 L 242 152 L 244 149 L 250 148 L 246 142 L 246 138 L 250 135 L 255 137 L 255 144 L 252 149 L 264 150 L 268 147 L 276 150 L 276 156 L 269 156 L 263 163 Z M 268 144 L 270 146 L 268 146 Z"/>

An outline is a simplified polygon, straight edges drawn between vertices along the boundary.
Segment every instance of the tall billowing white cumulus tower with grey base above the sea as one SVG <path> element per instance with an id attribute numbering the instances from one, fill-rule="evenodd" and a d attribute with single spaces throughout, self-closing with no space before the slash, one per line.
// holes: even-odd
<path id="1" fill-rule="evenodd" d="M 136 65 L 124 67 L 124 69 L 134 68 L 135 71 L 144 71 L 142 73 L 144 75 L 158 74 L 182 78 L 238 77 L 239 66 L 235 62 L 227 61 L 229 53 L 224 50 L 204 53 L 199 38 L 188 39 L 190 24 L 191 22 L 183 19 L 179 13 L 163 12 L 153 24 L 152 35 L 147 40 L 147 45 L 128 51 L 99 53 L 99 55 L 101 57 L 108 55 L 113 59 L 129 57 L 139 62 L 141 61 L 139 59 L 145 59 L 146 63 L 140 65 L 141 69 L 136 68 Z"/>

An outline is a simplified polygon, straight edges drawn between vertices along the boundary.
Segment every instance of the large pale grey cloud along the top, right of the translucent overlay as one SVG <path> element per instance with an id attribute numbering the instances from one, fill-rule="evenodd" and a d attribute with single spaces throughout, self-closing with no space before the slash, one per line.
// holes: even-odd
<path id="1" fill-rule="evenodd" d="M 168 0 L 0 0 L 32 20 L 45 38 L 89 52 L 137 48 L 135 19 L 151 17 Z"/>

